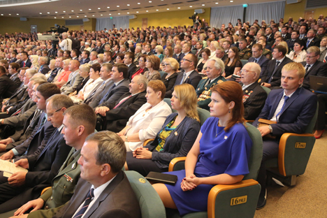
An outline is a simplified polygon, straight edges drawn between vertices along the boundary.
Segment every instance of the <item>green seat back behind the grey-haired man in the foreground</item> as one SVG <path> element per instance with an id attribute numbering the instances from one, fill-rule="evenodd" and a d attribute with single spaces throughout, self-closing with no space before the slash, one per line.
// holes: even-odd
<path id="1" fill-rule="evenodd" d="M 124 172 L 138 198 L 142 218 L 166 218 L 165 207 L 152 185 L 136 171 Z"/>

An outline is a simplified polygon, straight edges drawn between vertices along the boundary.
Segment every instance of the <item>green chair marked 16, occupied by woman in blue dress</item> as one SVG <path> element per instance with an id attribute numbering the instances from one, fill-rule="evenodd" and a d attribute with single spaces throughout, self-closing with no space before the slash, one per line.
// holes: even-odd
<path id="1" fill-rule="evenodd" d="M 208 212 L 194 212 L 183 218 L 204 217 L 254 217 L 258 203 L 260 184 L 256 177 L 262 159 L 262 137 L 258 129 L 247 124 L 247 132 L 252 139 L 252 150 L 249 159 L 249 174 L 235 184 L 217 184 L 208 196 Z M 169 171 L 184 169 L 184 160 L 180 157 L 170 161 Z M 167 217 L 180 217 L 177 210 L 166 209 Z"/>

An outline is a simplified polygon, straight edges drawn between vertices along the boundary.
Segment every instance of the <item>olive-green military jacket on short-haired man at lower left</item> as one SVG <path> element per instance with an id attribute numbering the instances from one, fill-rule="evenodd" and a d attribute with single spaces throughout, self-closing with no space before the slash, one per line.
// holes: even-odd
<path id="1" fill-rule="evenodd" d="M 52 180 L 52 188 L 40 196 L 45 202 L 43 207 L 45 210 L 31 212 L 28 217 L 53 217 L 62 205 L 71 200 L 80 178 L 80 166 L 77 163 L 80 158 L 80 150 L 74 152 L 75 148 L 72 148 L 59 173 Z M 73 161 L 68 163 L 72 156 L 74 157 Z"/>

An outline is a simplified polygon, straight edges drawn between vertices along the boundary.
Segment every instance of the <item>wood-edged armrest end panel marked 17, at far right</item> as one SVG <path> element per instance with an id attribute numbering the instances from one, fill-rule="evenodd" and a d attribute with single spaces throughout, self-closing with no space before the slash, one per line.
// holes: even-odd
<path id="1" fill-rule="evenodd" d="M 284 133 L 279 140 L 279 173 L 284 176 L 302 175 L 315 141 L 316 138 L 310 133 Z"/>

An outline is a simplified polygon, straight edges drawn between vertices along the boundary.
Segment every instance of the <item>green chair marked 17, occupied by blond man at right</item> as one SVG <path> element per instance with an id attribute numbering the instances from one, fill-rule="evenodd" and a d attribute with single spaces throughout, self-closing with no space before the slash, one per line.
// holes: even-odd
<path id="1" fill-rule="evenodd" d="M 316 138 L 312 134 L 318 116 L 318 106 L 314 117 L 307 126 L 305 133 L 284 133 L 279 140 L 278 157 L 266 161 L 268 182 L 271 177 L 293 186 L 296 177 L 305 173 Z"/>

